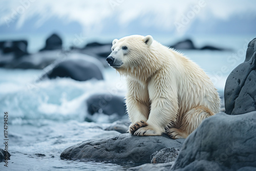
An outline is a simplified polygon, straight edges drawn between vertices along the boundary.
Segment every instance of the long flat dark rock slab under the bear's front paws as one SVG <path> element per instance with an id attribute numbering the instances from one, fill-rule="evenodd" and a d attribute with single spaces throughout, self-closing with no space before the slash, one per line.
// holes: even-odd
<path id="1" fill-rule="evenodd" d="M 119 134 L 109 138 L 83 141 L 65 149 L 61 159 L 103 159 L 132 163 L 150 162 L 150 156 L 162 148 L 180 148 L 184 139 L 173 140 L 167 135 L 133 136 Z"/>

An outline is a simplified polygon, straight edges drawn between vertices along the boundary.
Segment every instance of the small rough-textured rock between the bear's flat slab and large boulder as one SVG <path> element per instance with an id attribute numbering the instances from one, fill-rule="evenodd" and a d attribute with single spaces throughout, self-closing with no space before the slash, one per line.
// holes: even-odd
<path id="1" fill-rule="evenodd" d="M 175 161 L 180 150 L 177 148 L 163 148 L 151 155 L 151 163 L 168 163 Z"/>

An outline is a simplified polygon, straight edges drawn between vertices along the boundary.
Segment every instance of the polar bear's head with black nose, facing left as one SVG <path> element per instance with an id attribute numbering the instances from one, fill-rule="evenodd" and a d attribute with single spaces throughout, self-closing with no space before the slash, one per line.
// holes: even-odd
<path id="1" fill-rule="evenodd" d="M 151 35 L 132 35 L 112 42 L 112 53 L 106 58 L 109 65 L 121 74 L 136 72 L 136 69 L 146 68 L 151 61 L 153 44 Z M 139 71 L 137 71 L 139 72 Z"/>

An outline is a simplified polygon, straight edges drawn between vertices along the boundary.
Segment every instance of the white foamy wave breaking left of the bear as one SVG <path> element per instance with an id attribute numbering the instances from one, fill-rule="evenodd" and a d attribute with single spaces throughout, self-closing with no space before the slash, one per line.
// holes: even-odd
<path id="1" fill-rule="evenodd" d="M 76 81 L 70 78 L 31 82 L 14 89 L 11 87 L 2 93 L 0 108 L 8 111 L 12 123 L 45 119 L 84 121 L 87 115 L 85 101 L 90 95 L 124 95 L 125 91 L 113 86 L 113 83 L 108 80 Z M 7 88 L 10 84 L 13 83 L 2 83 L 1 86 Z"/>

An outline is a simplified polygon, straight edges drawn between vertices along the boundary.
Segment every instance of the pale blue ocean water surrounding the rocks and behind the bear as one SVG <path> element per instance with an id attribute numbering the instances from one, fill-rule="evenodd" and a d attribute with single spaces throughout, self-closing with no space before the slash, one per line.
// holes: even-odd
<path id="1" fill-rule="evenodd" d="M 228 74 L 244 61 L 248 44 L 245 39 L 236 38 L 230 46 L 233 51 L 182 53 L 204 69 L 223 96 Z M 119 134 L 104 131 L 110 125 L 109 116 L 104 114 L 99 114 L 95 122 L 85 122 L 85 101 L 95 93 L 125 95 L 125 78 L 106 68 L 104 80 L 80 82 L 57 78 L 36 82 L 41 74 L 44 70 L 0 69 L 0 147 L 4 147 L 4 112 L 8 112 L 8 151 L 12 155 L 8 168 L 2 162 L 0 170 L 125 170 L 134 166 L 126 162 L 59 157 L 64 149 L 81 141 Z"/>

